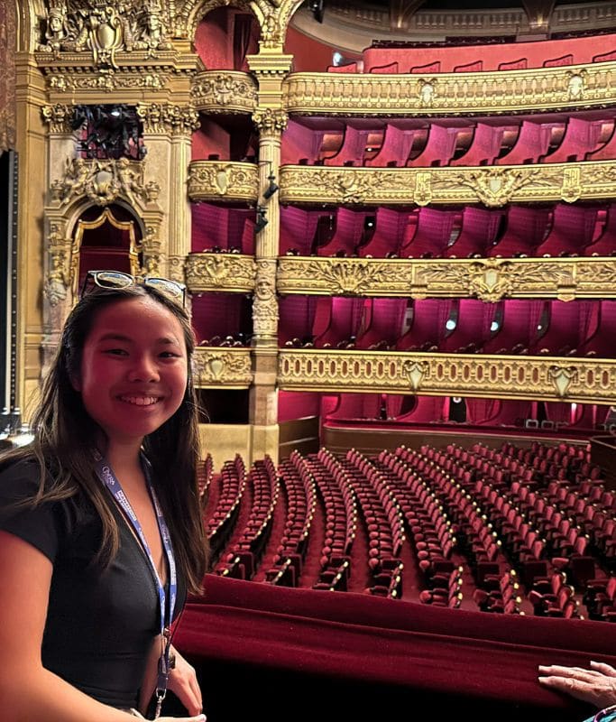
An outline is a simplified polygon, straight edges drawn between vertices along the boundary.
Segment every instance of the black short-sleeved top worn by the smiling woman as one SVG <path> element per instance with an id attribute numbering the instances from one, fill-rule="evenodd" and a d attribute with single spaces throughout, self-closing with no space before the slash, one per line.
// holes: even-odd
<path id="1" fill-rule="evenodd" d="M 32 544 L 53 563 L 42 664 L 104 704 L 135 707 L 152 640 L 161 631 L 152 567 L 111 495 L 120 550 L 103 571 L 89 566 L 102 532 L 96 509 L 83 495 L 17 513 L 6 508 L 32 497 L 39 478 L 35 460 L 0 472 L 0 529 Z M 186 585 L 179 578 L 176 618 L 185 599 Z"/>

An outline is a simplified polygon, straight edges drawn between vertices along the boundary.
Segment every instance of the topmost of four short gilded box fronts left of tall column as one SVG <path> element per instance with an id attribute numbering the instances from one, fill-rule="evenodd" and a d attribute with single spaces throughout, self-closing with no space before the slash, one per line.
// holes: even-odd
<path id="1" fill-rule="evenodd" d="M 194 77 L 191 96 L 195 106 L 207 113 L 253 113 L 257 85 L 239 70 L 206 70 Z"/>

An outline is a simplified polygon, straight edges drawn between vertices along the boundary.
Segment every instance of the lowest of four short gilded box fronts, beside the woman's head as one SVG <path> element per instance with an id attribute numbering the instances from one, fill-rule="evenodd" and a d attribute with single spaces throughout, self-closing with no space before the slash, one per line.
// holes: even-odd
<path id="1" fill-rule="evenodd" d="M 250 348 L 197 347 L 193 374 L 198 388 L 244 389 L 253 383 Z"/>

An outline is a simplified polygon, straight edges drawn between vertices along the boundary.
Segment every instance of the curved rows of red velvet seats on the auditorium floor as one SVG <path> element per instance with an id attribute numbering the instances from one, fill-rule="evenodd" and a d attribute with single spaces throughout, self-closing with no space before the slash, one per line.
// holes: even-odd
<path id="1" fill-rule="evenodd" d="M 231 477 L 237 463 L 229 464 Z M 223 510 L 236 506 L 239 494 L 229 466 L 216 500 Z M 244 511 L 248 523 L 227 533 L 216 570 L 305 586 L 308 541 L 316 535 L 323 544 L 311 586 L 357 590 L 361 580 L 352 574 L 362 562 L 355 542 L 365 535 L 363 589 L 372 595 L 412 598 L 404 593 L 409 548 L 422 575 L 417 598 L 423 603 L 570 617 L 584 615 L 584 602 L 588 616 L 613 619 L 616 494 L 598 474 L 584 448 L 565 444 L 400 448 L 372 459 L 353 449 L 343 457 L 326 449 L 308 457 L 295 451 L 278 473 L 269 459 L 253 467 L 249 478 L 261 484 L 253 499 L 264 503 Z M 271 538 L 279 496 L 284 532 Z M 220 523 L 213 537 L 219 532 Z M 258 569 L 260 560 L 265 569 Z"/>

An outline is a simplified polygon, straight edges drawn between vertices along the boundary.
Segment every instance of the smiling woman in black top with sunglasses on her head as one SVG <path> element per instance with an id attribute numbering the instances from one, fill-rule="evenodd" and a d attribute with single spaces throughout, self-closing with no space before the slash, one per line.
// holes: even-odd
<path id="1" fill-rule="evenodd" d="M 0 460 L 0 664 L 23 680 L 0 679 L 7 722 L 120 722 L 154 691 L 158 717 L 167 688 L 202 709 L 170 643 L 206 563 L 194 338 L 179 296 L 121 275 L 70 313 L 34 441 Z"/>

